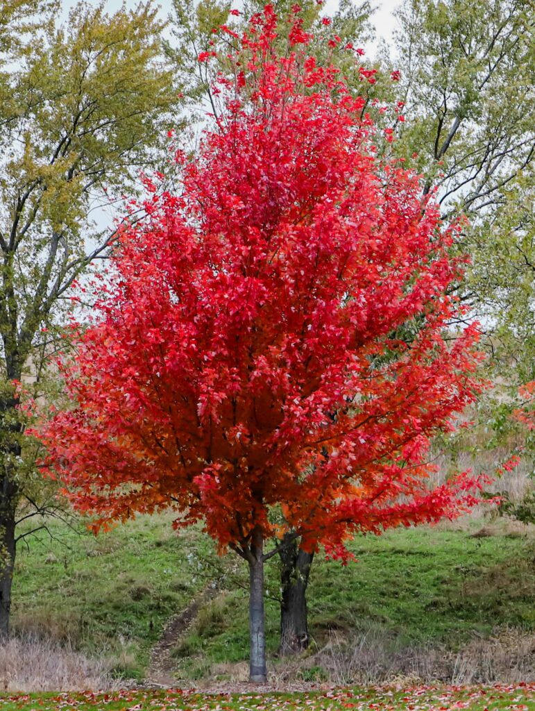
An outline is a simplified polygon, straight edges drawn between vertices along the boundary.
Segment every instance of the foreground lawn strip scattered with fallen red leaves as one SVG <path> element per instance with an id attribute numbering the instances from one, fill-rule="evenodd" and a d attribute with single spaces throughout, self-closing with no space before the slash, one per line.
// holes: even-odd
<path id="1" fill-rule="evenodd" d="M 205 695 L 194 692 L 124 690 L 109 694 L 44 694 L 0 697 L 2 711 L 338 711 L 535 710 L 535 684 L 490 687 L 337 689 L 298 693 Z"/>

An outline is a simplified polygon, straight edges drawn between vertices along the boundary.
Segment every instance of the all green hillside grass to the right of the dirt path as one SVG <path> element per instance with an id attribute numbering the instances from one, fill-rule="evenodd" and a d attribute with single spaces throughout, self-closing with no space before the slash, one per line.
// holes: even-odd
<path id="1" fill-rule="evenodd" d="M 416 528 L 390 531 L 352 544 L 356 561 L 315 560 L 308 591 L 315 647 L 330 631 L 379 627 L 407 645 L 455 650 L 473 634 L 499 627 L 535 629 L 534 542 L 507 530 L 470 538 L 470 530 Z M 276 565 L 267 570 L 271 592 Z M 242 579 L 245 582 L 245 578 Z M 279 605 L 266 604 L 267 648 L 279 643 Z M 314 648 L 314 646 L 313 646 Z M 201 611 L 175 648 L 184 675 L 198 680 L 207 665 L 247 659 L 246 592 L 234 589 Z"/>

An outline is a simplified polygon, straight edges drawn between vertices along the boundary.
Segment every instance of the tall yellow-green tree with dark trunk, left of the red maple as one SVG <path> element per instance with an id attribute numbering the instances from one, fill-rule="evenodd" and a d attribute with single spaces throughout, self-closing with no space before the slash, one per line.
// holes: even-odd
<path id="1" fill-rule="evenodd" d="M 139 170 L 154 165 L 177 102 L 151 4 L 112 16 L 102 4 L 79 4 L 64 26 L 57 12 L 57 3 L 37 1 L 0 11 L 0 634 L 16 525 L 50 510 L 16 382 L 29 374 L 28 389 L 42 394 L 72 304 L 67 289 L 105 254 L 114 233 L 102 223 L 134 191 Z"/>

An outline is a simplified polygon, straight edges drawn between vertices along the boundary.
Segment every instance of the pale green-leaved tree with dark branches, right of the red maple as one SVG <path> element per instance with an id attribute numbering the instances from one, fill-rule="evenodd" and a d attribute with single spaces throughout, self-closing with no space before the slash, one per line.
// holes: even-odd
<path id="1" fill-rule="evenodd" d="M 535 374 L 534 4 L 406 0 L 396 35 L 406 121 L 395 150 L 415 153 L 446 218 L 470 224 L 463 298 L 499 347 L 492 362 Z M 386 65 L 391 60 L 383 55 Z M 531 377 L 530 377 L 531 376 Z"/>

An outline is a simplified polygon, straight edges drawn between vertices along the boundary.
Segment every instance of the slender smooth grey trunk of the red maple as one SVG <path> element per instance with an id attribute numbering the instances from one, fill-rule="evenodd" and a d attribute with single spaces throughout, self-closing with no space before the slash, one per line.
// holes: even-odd
<path id="1" fill-rule="evenodd" d="M 264 540 L 259 528 L 253 533 L 249 560 L 249 681 L 264 683 L 266 673 L 266 631 L 264 617 Z"/>

